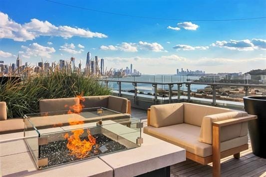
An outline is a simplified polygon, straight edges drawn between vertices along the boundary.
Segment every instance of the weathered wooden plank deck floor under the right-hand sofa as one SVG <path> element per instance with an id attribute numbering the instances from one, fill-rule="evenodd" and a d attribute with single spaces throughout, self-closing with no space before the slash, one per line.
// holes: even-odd
<path id="1" fill-rule="evenodd" d="M 147 111 L 131 108 L 133 117 L 141 118 L 147 123 Z M 146 124 L 147 125 L 147 124 Z M 249 149 L 241 152 L 240 159 L 233 156 L 221 160 L 222 177 L 266 177 L 266 159 L 259 158 L 252 153 L 249 140 Z M 207 166 L 187 159 L 171 166 L 171 177 L 211 177 L 212 163 Z"/>

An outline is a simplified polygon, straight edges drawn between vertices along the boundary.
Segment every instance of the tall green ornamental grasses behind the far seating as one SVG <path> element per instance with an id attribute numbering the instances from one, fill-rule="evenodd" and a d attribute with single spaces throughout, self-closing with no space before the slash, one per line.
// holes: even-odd
<path id="1" fill-rule="evenodd" d="M 111 89 L 98 78 L 77 72 L 45 72 L 0 85 L 0 101 L 7 104 L 7 117 L 37 113 L 40 99 L 67 98 L 77 95 L 109 95 Z"/>

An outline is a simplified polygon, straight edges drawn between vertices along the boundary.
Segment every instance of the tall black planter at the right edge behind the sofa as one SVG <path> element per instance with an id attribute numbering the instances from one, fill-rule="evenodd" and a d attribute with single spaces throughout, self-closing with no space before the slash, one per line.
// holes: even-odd
<path id="1" fill-rule="evenodd" d="M 252 151 L 256 156 L 266 158 L 266 96 L 243 99 L 246 112 L 258 116 L 258 119 L 249 121 Z"/>

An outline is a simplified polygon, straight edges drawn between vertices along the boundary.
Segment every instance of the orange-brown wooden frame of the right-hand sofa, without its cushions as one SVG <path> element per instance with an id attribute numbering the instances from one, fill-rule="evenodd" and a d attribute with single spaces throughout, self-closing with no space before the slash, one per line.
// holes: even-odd
<path id="1" fill-rule="evenodd" d="M 151 108 L 148 108 L 147 111 L 147 125 L 150 126 L 150 119 L 151 119 Z M 208 157 L 200 157 L 193 153 L 186 151 L 186 157 L 192 161 L 200 163 L 202 165 L 207 165 L 209 163 L 213 163 L 213 177 L 220 177 L 221 176 L 221 159 L 234 155 L 234 158 L 240 158 L 240 152 L 248 150 L 249 144 L 242 145 L 236 148 L 232 148 L 227 151 L 221 151 L 221 140 L 220 140 L 220 133 L 221 127 L 233 125 L 237 123 L 242 123 L 250 120 L 257 119 L 257 116 L 248 115 L 245 117 L 240 118 L 233 118 L 224 121 L 214 122 L 213 123 L 213 155 Z"/>

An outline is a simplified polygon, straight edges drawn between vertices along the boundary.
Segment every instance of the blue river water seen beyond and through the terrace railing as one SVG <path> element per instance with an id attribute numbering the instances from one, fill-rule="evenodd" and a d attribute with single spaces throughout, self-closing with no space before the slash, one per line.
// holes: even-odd
<path id="1" fill-rule="evenodd" d="M 119 80 L 119 81 L 137 81 L 137 82 L 160 82 L 160 83 L 177 83 L 177 82 L 190 82 L 198 79 L 198 76 L 177 76 L 177 75 L 142 75 L 135 77 L 123 77 L 123 78 L 108 78 L 108 80 Z M 189 81 L 187 81 L 189 80 Z M 192 84 L 191 90 L 196 92 L 198 89 L 204 89 L 207 85 L 197 85 Z M 114 90 L 118 90 L 119 86 L 116 82 L 108 82 L 108 87 L 113 88 Z M 158 85 L 158 89 L 168 90 L 168 85 Z M 140 92 L 154 93 L 154 88 L 152 84 L 137 84 L 137 89 Z M 121 83 L 122 91 L 134 90 L 134 86 L 132 83 Z M 172 90 L 177 90 L 177 84 L 174 84 Z M 187 87 L 185 84 L 181 87 L 181 90 L 187 91 Z"/>

